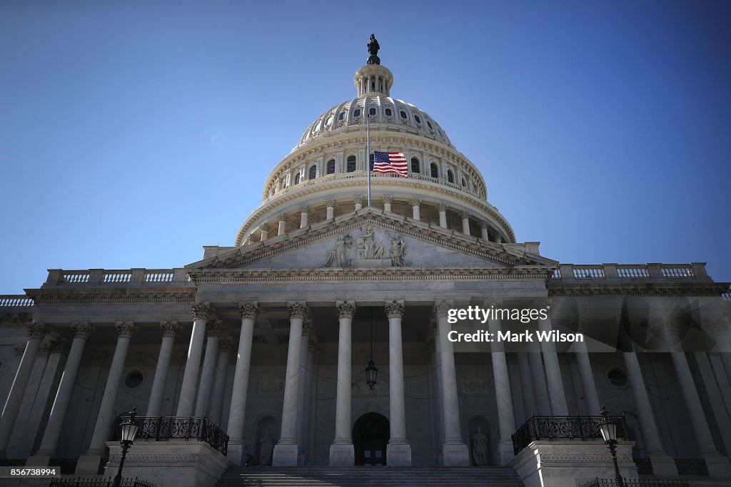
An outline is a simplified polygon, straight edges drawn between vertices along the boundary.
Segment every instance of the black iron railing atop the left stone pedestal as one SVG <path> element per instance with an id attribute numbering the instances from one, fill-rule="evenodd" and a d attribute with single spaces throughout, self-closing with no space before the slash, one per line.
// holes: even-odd
<path id="1" fill-rule="evenodd" d="M 228 451 L 228 435 L 205 416 L 202 418 L 137 416 L 135 423 L 139 428 L 135 442 L 140 440 L 198 440 L 208 443 L 224 455 Z M 119 440 L 120 435 L 120 426 L 117 425 L 114 429 L 114 440 Z"/>

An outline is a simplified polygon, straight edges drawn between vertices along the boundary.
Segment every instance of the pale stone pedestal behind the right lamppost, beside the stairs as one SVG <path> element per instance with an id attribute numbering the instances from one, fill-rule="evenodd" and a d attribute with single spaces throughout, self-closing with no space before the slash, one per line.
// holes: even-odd
<path id="1" fill-rule="evenodd" d="M 617 444 L 619 472 L 628 480 L 640 478 L 632 461 L 634 445 L 633 441 Z M 534 441 L 508 465 L 518 472 L 526 487 L 580 486 L 597 477 L 615 476 L 609 449 L 601 440 Z"/>

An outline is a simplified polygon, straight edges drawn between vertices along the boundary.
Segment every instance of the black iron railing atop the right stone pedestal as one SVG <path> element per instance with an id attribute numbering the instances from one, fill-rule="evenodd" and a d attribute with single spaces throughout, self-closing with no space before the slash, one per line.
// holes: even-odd
<path id="1" fill-rule="evenodd" d="M 515 455 L 536 440 L 593 440 L 601 438 L 599 421 L 602 416 L 531 416 L 512 434 Z M 617 423 L 617 438 L 629 439 L 624 417 L 611 418 Z"/>

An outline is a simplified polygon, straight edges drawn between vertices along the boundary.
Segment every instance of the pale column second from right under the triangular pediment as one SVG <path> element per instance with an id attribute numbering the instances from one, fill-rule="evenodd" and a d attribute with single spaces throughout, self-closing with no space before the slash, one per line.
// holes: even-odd
<path id="1" fill-rule="evenodd" d="M 485 308 L 503 307 L 502 299 L 493 299 L 485 302 Z M 488 329 L 497 337 L 501 331 L 500 320 L 488 320 Z M 510 392 L 510 372 L 507 369 L 507 359 L 502 342 L 494 341 L 490 344 L 493 360 L 493 379 L 495 380 L 495 398 L 498 404 L 498 426 L 500 441 L 498 443 L 498 457 L 501 465 L 507 465 L 515 454 L 512 449 L 512 434 L 515 433 L 515 414 L 512 410 L 512 393 Z"/>

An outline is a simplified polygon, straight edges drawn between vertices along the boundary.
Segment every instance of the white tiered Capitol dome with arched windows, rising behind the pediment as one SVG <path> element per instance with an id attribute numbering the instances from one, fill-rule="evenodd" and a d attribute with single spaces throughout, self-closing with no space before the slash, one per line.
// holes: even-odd
<path id="1" fill-rule="evenodd" d="M 235 245 L 252 245 L 368 206 L 366 147 L 400 152 L 408 177 L 371 172 L 370 206 L 496 243 L 515 243 L 485 179 L 427 112 L 391 96 L 377 56 L 353 77 L 357 96 L 322 112 L 270 172 L 263 202 Z M 370 137 L 368 137 L 370 135 Z"/>

